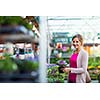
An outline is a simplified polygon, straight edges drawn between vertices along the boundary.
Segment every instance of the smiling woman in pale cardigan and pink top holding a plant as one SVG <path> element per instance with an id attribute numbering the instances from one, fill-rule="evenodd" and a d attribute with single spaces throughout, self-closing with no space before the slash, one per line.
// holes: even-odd
<path id="1" fill-rule="evenodd" d="M 70 67 L 63 71 L 68 73 L 68 83 L 86 83 L 88 53 L 82 48 L 83 38 L 80 34 L 73 36 L 72 46 L 74 52 L 69 59 Z"/>

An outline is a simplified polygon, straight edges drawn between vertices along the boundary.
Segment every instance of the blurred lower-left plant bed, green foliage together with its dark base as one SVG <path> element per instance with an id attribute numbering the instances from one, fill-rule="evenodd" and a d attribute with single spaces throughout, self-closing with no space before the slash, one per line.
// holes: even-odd
<path id="1" fill-rule="evenodd" d="M 7 56 L 7 59 L 0 60 L 0 82 L 37 82 L 38 66 L 37 62 Z"/>

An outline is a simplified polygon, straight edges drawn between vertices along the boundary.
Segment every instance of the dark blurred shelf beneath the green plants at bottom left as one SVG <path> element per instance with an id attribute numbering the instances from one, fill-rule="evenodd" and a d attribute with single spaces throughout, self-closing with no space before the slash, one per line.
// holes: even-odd
<path id="1" fill-rule="evenodd" d="M 38 72 L 32 73 L 14 73 L 14 74 L 0 74 L 0 82 L 38 82 Z"/>

